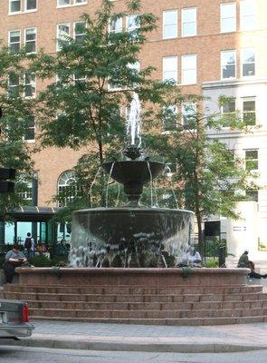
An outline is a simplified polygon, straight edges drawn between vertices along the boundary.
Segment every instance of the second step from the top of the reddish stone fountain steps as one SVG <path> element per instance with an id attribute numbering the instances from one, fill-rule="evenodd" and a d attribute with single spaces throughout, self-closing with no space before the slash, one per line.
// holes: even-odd
<path id="1" fill-rule="evenodd" d="M 30 300 L 50 300 L 50 301 L 86 301 L 86 302 L 233 302 L 233 301 L 258 301 L 267 300 L 267 293 L 242 293 L 242 294 L 186 294 L 186 295 L 94 295 L 94 294 L 52 294 L 33 292 L 12 292 L 5 289 L 0 291 L 3 299 L 24 299 Z"/>

